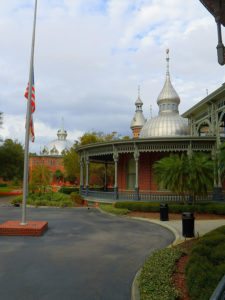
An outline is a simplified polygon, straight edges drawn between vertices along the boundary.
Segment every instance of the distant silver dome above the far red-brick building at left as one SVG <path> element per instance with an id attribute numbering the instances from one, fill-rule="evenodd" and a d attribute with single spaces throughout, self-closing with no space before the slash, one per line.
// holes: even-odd
<path id="1" fill-rule="evenodd" d="M 57 131 L 58 139 L 53 140 L 48 145 L 44 146 L 44 149 L 41 151 L 42 155 L 63 155 L 65 151 L 72 148 L 73 143 L 66 139 L 67 131 L 64 130 L 63 126 Z"/>

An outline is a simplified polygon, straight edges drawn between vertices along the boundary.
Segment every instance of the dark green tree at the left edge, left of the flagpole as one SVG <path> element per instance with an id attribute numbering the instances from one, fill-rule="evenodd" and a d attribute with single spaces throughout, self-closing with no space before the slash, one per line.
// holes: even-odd
<path id="1" fill-rule="evenodd" d="M 0 176 L 4 180 L 21 180 L 23 178 L 24 149 L 11 139 L 0 146 Z"/>

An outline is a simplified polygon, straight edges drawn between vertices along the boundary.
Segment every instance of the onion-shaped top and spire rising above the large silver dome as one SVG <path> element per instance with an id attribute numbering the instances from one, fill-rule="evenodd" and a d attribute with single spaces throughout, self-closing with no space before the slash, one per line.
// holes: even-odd
<path id="1" fill-rule="evenodd" d="M 169 49 L 166 50 L 166 80 L 161 93 L 158 96 L 157 104 L 159 106 L 159 115 L 164 114 L 179 114 L 178 105 L 180 104 L 180 98 L 175 91 L 170 81 L 169 71 Z"/>

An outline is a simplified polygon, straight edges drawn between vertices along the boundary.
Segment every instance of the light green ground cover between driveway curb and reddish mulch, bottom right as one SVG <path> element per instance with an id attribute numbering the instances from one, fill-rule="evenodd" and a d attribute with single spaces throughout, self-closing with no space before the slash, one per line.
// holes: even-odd
<path id="1" fill-rule="evenodd" d="M 173 300 L 179 293 L 172 283 L 175 263 L 181 257 L 179 248 L 155 251 L 145 262 L 139 277 L 141 300 Z"/>

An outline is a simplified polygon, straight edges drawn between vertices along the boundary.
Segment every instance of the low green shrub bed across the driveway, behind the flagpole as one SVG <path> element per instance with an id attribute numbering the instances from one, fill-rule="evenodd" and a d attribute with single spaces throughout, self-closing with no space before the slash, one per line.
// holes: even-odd
<path id="1" fill-rule="evenodd" d="M 22 196 L 15 197 L 11 203 L 21 204 Z M 33 206 L 56 206 L 56 207 L 72 207 L 73 202 L 68 195 L 62 193 L 45 193 L 45 194 L 30 194 L 27 198 L 27 204 Z"/>

